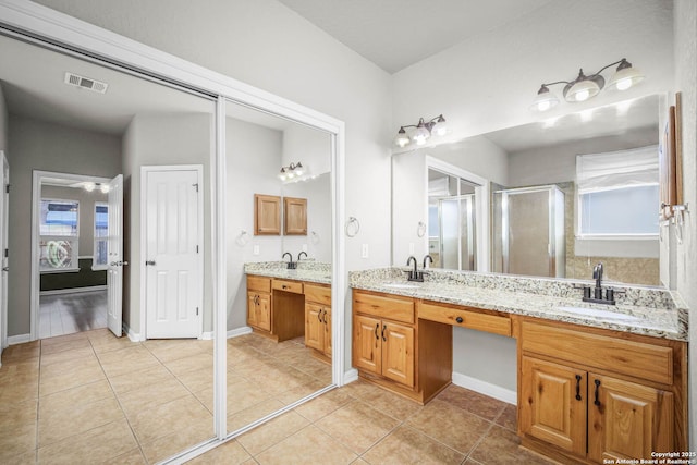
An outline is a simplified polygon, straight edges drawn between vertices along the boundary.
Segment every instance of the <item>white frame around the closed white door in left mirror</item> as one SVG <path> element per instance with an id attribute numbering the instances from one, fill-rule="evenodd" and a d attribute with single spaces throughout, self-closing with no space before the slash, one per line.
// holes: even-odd
<path id="1" fill-rule="evenodd" d="M 206 234 L 205 234 L 205 223 L 204 223 L 204 166 L 203 164 L 147 164 L 140 167 L 140 262 L 138 264 L 138 268 L 140 270 L 140 341 L 145 341 L 147 339 L 147 268 L 145 266 L 146 260 L 146 248 L 147 248 L 147 217 L 146 217 L 146 205 L 147 205 L 147 188 L 148 188 L 148 176 L 147 174 L 154 171 L 196 171 L 196 175 L 198 176 L 198 218 L 196 221 L 198 222 L 198 234 L 199 234 L 199 254 L 198 254 L 198 266 L 200 270 L 200 282 L 199 282 L 199 303 L 200 303 L 200 318 L 198 320 L 198 339 L 204 339 L 204 320 L 206 315 L 206 309 L 204 307 L 204 257 L 206 254 Z M 212 215 L 212 211 L 211 211 Z M 211 257 L 211 260 L 213 258 Z M 215 307 L 213 307 L 215 308 Z M 211 325 L 215 310 L 211 314 Z"/>

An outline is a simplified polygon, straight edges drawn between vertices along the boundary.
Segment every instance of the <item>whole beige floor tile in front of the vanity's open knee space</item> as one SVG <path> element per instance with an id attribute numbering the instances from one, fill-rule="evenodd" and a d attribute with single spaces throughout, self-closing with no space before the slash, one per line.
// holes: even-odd
<path id="1" fill-rule="evenodd" d="M 465 455 L 491 426 L 475 414 L 438 400 L 429 402 L 406 424 Z"/>

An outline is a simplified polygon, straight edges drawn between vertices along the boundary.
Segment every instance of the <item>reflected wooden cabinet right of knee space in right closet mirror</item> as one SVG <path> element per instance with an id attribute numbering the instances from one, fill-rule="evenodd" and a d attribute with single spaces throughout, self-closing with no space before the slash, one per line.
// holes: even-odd
<path id="1" fill-rule="evenodd" d="M 331 287 L 305 283 L 305 346 L 331 362 Z"/>

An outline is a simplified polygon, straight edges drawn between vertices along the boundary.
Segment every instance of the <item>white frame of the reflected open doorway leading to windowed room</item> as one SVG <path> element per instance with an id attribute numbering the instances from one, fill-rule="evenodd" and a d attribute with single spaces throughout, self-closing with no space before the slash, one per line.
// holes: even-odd
<path id="1" fill-rule="evenodd" d="M 111 178 L 89 176 L 86 174 L 59 173 L 54 171 L 34 170 L 32 173 L 32 295 L 29 297 L 29 339 L 39 339 L 39 292 L 41 287 L 41 273 L 39 272 L 39 206 L 41 198 L 41 181 L 45 178 L 59 178 L 75 182 L 91 181 L 108 184 Z"/>

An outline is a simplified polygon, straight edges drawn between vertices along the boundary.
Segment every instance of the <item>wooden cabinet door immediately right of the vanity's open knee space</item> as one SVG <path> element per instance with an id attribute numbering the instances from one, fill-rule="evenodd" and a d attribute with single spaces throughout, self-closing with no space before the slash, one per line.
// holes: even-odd
<path id="1" fill-rule="evenodd" d="M 585 456 L 587 374 L 527 356 L 522 365 L 522 432 Z"/>

